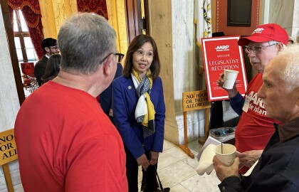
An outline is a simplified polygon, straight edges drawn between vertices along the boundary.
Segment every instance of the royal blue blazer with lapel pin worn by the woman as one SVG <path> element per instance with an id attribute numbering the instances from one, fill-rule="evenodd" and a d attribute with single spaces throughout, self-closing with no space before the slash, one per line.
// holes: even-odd
<path id="1" fill-rule="evenodd" d="M 115 124 L 122 141 L 135 159 L 145 154 L 145 149 L 156 152 L 163 150 L 165 104 L 162 80 L 159 77 L 152 83 L 150 99 L 156 112 L 154 115 L 156 130 L 154 134 L 144 139 L 142 124 L 135 120 L 138 97 L 132 78 L 122 76 L 112 82 L 112 109 Z"/>

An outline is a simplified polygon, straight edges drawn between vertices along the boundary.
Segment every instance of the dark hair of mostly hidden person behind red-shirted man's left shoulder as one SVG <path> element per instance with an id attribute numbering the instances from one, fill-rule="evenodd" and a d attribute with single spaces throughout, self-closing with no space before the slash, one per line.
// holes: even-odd
<path id="1" fill-rule="evenodd" d="M 47 62 L 47 67 L 45 70 L 45 75 L 43 75 L 43 80 L 48 81 L 56 78 L 59 71 L 61 70 L 61 54 L 53 54 Z"/>

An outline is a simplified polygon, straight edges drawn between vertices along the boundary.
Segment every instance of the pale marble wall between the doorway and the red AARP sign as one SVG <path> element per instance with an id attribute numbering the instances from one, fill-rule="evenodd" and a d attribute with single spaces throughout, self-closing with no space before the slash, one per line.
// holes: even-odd
<path id="1" fill-rule="evenodd" d="M 196 62 L 194 1 L 172 1 L 172 38 L 174 68 L 174 107 L 179 132 L 179 144 L 184 142 L 182 92 L 203 90 L 203 75 Z M 204 110 L 187 112 L 188 141 L 204 135 Z"/>

